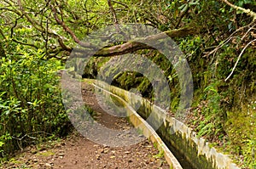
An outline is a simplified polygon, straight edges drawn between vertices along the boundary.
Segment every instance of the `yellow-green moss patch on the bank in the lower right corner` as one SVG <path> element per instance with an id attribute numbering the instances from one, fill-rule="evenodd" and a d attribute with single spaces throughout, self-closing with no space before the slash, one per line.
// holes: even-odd
<path id="1" fill-rule="evenodd" d="M 230 154 L 241 155 L 243 166 L 252 167 L 256 166 L 253 157 L 256 149 L 256 101 L 254 100 L 242 104 L 241 110 L 229 111 L 228 121 L 225 123 L 225 132 L 230 138 L 225 149 L 230 149 Z"/>

